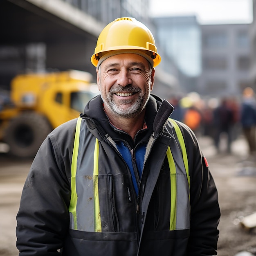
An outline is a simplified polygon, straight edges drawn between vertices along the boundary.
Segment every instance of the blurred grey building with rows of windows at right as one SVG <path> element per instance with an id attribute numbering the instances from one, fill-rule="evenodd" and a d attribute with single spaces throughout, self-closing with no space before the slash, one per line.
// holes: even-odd
<path id="1" fill-rule="evenodd" d="M 249 85 L 249 24 L 201 25 L 202 74 L 198 92 L 236 96 Z"/>

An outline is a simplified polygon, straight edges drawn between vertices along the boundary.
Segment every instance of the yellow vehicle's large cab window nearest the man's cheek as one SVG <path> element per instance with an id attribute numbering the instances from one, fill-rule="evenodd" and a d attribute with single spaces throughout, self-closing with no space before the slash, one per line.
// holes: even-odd
<path id="1" fill-rule="evenodd" d="M 85 105 L 95 96 L 92 92 L 72 92 L 70 108 L 83 112 Z"/>

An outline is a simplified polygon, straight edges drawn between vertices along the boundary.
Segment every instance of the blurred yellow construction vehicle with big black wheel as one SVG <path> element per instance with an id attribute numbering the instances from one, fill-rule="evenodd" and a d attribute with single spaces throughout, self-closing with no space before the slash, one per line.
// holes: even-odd
<path id="1" fill-rule="evenodd" d="M 11 81 L 10 103 L 0 109 L 0 141 L 16 157 L 34 157 L 49 132 L 79 117 L 99 94 L 88 72 L 70 70 L 17 75 Z"/>

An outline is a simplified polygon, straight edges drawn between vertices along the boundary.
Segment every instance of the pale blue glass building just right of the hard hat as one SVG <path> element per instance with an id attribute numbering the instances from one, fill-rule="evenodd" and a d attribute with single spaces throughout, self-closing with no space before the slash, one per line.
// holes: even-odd
<path id="1" fill-rule="evenodd" d="M 201 29 L 195 16 L 153 18 L 161 48 L 173 60 L 169 68 L 185 91 L 196 90 L 201 73 Z"/>

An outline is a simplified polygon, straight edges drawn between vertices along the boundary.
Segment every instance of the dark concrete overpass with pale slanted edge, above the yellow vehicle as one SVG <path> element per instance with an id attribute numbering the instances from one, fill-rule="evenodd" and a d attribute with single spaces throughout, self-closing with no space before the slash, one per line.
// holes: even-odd
<path id="1" fill-rule="evenodd" d="M 105 24 L 67 2 L 1 0 L 0 23 L 2 87 L 28 69 L 95 73 L 90 57 Z"/>

